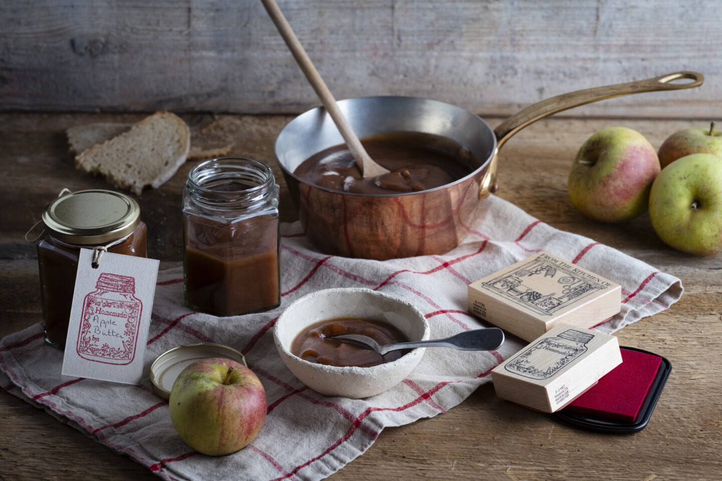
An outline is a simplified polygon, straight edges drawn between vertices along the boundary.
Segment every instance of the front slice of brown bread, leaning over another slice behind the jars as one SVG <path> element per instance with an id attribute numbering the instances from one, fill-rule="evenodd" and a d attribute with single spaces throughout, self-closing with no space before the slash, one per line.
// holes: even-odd
<path id="1" fill-rule="evenodd" d="M 156 112 L 127 132 L 75 157 L 75 168 L 100 174 L 111 184 L 140 195 L 143 187 L 160 187 L 186 162 L 191 132 L 171 112 Z"/>

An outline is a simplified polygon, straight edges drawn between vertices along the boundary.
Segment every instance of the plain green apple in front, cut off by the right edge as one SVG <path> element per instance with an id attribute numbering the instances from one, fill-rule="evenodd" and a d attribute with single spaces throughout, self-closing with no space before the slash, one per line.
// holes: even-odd
<path id="1" fill-rule="evenodd" d="M 674 249 L 696 255 L 722 249 L 722 158 L 692 154 L 664 167 L 652 185 L 649 218 Z"/>

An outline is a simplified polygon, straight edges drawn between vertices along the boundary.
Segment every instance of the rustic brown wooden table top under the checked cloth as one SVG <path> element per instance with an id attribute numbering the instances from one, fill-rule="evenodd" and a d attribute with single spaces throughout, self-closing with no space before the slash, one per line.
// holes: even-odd
<path id="1" fill-rule="evenodd" d="M 63 187 L 110 188 L 72 167 L 64 129 L 92 121 L 135 121 L 140 115 L 0 114 L 0 337 L 41 319 L 35 246 L 25 231 Z M 193 128 L 207 120 L 187 115 Z M 274 165 L 273 140 L 287 116 L 244 118 L 234 154 Z M 496 125 L 501 119 L 487 119 Z M 665 356 L 673 366 L 643 431 L 604 435 L 580 431 L 548 415 L 495 397 L 485 384 L 435 418 L 388 428 L 362 456 L 329 480 L 719 480 L 722 469 L 722 253 L 692 257 L 666 247 L 647 216 L 621 226 L 583 217 L 567 195 L 567 173 L 593 132 L 624 125 L 658 148 L 682 128 L 705 120 L 549 118 L 506 144 L 498 195 L 558 229 L 583 234 L 682 279 L 684 295 L 666 312 L 625 327 L 621 345 Z M 188 162 L 158 190 L 138 198 L 149 226 L 149 257 L 162 267 L 181 260 L 181 192 Z M 283 206 L 291 206 L 287 193 Z M 291 208 L 283 219 L 295 220 Z M 0 479 L 107 481 L 157 479 L 148 469 L 58 423 L 10 394 L 0 394 Z"/>

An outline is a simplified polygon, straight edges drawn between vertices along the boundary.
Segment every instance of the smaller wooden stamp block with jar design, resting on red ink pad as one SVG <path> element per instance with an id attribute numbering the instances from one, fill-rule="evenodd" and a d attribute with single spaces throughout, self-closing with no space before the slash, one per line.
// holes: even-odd
<path id="1" fill-rule="evenodd" d="M 492 371 L 497 396 L 554 412 L 622 363 L 617 337 L 560 324 Z"/>

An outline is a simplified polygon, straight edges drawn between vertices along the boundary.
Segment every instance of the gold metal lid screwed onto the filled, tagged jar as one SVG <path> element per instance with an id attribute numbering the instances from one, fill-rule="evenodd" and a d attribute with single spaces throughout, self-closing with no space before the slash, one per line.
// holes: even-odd
<path id="1" fill-rule="evenodd" d="M 122 239 L 140 223 L 140 206 L 112 190 L 79 190 L 53 200 L 43 224 L 61 242 L 100 245 Z"/>

